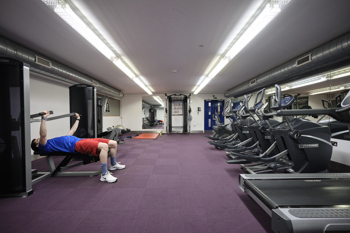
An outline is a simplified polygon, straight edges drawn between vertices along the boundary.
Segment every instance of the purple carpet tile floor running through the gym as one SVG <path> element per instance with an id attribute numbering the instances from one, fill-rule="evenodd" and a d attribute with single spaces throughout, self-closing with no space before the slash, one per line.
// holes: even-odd
<path id="1" fill-rule="evenodd" d="M 117 182 L 48 177 L 28 197 L 0 198 L 1 232 L 272 232 L 268 214 L 238 187 L 240 166 L 207 140 L 203 133 L 127 139 L 117 148 L 126 165 L 112 171 Z M 44 158 L 32 168 L 48 171 Z"/>

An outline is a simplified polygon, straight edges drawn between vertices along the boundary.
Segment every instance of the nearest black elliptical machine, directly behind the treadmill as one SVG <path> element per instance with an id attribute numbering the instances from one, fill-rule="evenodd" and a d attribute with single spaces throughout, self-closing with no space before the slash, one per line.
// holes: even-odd
<path id="1" fill-rule="evenodd" d="M 286 111 L 293 110 L 282 109 L 290 107 L 294 102 L 294 97 L 286 96 L 281 99 L 281 87 L 279 85 L 275 85 L 275 93 L 277 104 L 271 109 L 278 110 L 276 114 L 283 116 L 285 121 L 275 125 L 273 129 L 269 129 L 274 143 L 269 147 L 268 151 L 277 148 L 279 153 L 267 158 L 267 152 L 259 155 L 236 152 L 233 152 L 233 154 L 248 161 L 265 163 L 269 171 L 280 170 L 276 161 L 281 159 L 293 166 L 293 168 L 285 169 L 286 173 L 327 172 L 326 169 L 332 156 L 331 132 L 329 128 L 306 119 L 294 118 L 293 115 L 296 114 L 294 112 L 286 114 Z M 262 114 L 268 116 L 264 112 L 265 108 L 266 106 L 262 108 Z M 279 114 L 281 111 L 284 111 L 285 114 Z M 295 110 L 295 112 L 299 115 L 303 113 L 302 110 Z M 250 169 L 247 169 L 247 172 L 254 173 Z"/>

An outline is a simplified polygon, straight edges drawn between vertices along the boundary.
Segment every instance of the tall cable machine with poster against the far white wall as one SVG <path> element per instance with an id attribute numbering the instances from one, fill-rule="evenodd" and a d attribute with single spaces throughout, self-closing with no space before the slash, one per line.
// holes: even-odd
<path id="1" fill-rule="evenodd" d="M 165 116 L 167 117 L 166 132 L 167 134 L 181 129 L 182 133 L 190 134 L 190 118 L 191 118 L 191 94 L 165 94 Z"/>

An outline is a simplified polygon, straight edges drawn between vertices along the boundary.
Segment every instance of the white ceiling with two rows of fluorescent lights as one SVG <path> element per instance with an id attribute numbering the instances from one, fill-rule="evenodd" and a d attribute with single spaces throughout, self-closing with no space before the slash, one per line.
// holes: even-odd
<path id="1" fill-rule="evenodd" d="M 154 94 L 193 93 L 263 0 L 70 0 Z M 200 94 L 227 90 L 350 32 L 349 0 L 292 0 Z M 124 94 L 136 83 L 41 0 L 1 0 L 0 36 Z M 199 45 L 203 44 L 203 47 Z M 224 44 L 224 45 L 223 45 Z M 176 70 L 177 73 L 172 71 Z"/>

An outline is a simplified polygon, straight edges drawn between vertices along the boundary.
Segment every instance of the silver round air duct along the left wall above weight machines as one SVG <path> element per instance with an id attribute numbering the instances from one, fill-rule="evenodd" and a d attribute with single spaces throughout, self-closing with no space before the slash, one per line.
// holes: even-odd
<path id="1" fill-rule="evenodd" d="M 62 80 L 64 82 L 75 84 L 87 84 L 96 87 L 97 92 L 108 96 L 123 98 L 124 93 L 117 89 L 111 88 L 104 83 L 87 77 L 71 68 L 61 65 L 55 61 L 51 61 L 33 51 L 23 48 L 0 37 L 0 56 L 9 57 L 30 65 L 30 71 L 40 73 L 51 78 Z"/>

